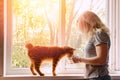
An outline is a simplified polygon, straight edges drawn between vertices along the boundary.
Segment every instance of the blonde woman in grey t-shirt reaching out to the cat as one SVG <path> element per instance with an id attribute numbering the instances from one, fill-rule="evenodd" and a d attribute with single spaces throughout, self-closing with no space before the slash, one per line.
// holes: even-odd
<path id="1" fill-rule="evenodd" d="M 87 42 L 84 48 L 85 58 L 72 57 L 73 62 L 86 64 L 85 78 L 89 80 L 111 80 L 108 71 L 109 29 L 91 11 L 84 12 L 77 22 Z"/>

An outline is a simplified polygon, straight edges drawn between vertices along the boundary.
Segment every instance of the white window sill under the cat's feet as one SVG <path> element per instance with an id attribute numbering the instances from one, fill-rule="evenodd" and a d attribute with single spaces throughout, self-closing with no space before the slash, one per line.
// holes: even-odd
<path id="1" fill-rule="evenodd" d="M 120 74 L 110 74 L 112 80 L 119 80 Z M 0 77 L 0 80 L 85 80 L 83 74 L 58 74 L 58 76 L 33 76 L 33 75 L 8 75 Z"/>

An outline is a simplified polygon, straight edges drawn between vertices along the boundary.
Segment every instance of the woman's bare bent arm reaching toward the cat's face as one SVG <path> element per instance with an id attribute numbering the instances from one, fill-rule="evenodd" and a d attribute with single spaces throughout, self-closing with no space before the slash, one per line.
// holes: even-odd
<path id="1" fill-rule="evenodd" d="M 96 46 L 96 53 L 97 55 L 95 57 L 91 58 L 76 58 L 73 57 L 73 61 L 76 62 L 83 62 L 86 64 L 91 65 L 104 65 L 106 63 L 107 53 L 108 53 L 108 47 L 107 44 L 99 44 Z"/>

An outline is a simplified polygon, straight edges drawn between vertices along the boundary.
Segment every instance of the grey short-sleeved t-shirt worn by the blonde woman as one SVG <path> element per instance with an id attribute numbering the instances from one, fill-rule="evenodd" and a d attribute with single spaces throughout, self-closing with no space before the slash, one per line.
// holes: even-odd
<path id="1" fill-rule="evenodd" d="M 108 56 L 105 65 L 90 65 L 86 64 L 85 78 L 95 78 L 98 76 L 104 76 L 109 73 L 108 71 L 108 58 L 109 58 L 109 48 L 110 48 L 110 37 L 104 31 L 98 31 L 90 41 L 86 44 L 84 51 L 85 57 L 90 58 L 96 56 L 95 47 L 99 44 L 108 45 Z"/>

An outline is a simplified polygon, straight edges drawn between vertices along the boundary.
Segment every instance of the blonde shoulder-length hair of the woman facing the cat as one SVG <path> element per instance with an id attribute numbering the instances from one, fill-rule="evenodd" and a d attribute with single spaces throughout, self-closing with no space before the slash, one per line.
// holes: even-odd
<path id="1" fill-rule="evenodd" d="M 86 38 L 91 38 L 98 30 L 103 30 L 109 34 L 109 29 L 104 25 L 100 18 L 91 11 L 85 11 L 78 18 L 77 22 Z"/>

